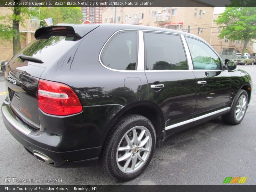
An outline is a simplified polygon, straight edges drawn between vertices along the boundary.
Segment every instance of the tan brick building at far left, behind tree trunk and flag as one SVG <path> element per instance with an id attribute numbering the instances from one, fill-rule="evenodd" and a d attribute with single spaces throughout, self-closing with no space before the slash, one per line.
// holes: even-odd
<path id="1" fill-rule="evenodd" d="M 13 12 L 10 8 L 0 7 L 0 16 L 11 15 Z M 1 22 L 1 21 L 0 21 Z M 36 19 L 25 20 L 25 27 L 20 25 L 20 45 L 21 48 L 35 40 L 35 31 L 40 27 L 40 21 Z M 12 24 L 11 24 L 12 25 Z M 13 55 L 12 43 L 2 40 L 0 37 L 0 61 L 10 59 Z"/>

